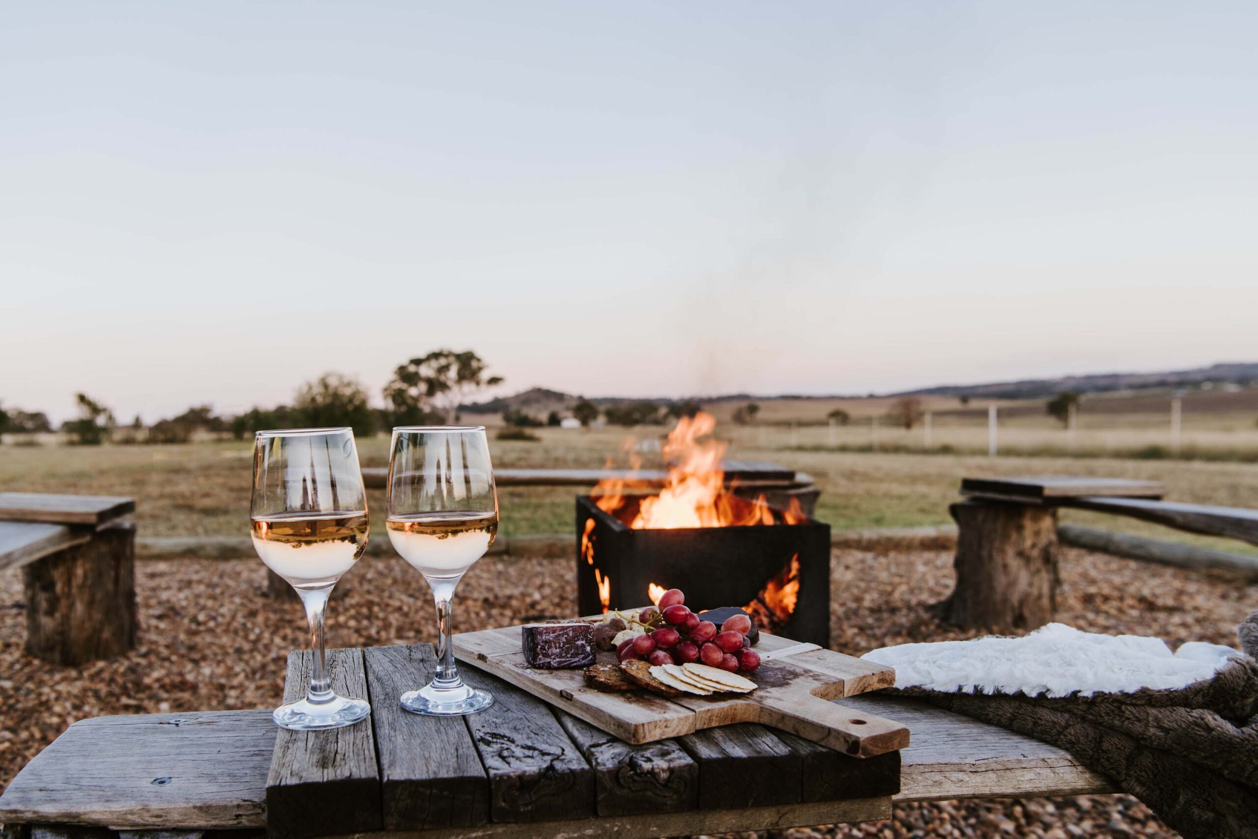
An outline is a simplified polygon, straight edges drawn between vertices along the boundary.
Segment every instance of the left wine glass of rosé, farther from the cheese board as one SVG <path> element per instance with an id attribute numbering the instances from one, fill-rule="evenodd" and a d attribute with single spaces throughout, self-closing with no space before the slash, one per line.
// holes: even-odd
<path id="1" fill-rule="evenodd" d="M 353 431 L 258 431 L 249 526 L 258 556 L 302 599 L 314 652 L 306 698 L 276 708 L 276 725 L 341 728 L 366 718 L 371 713 L 366 701 L 332 692 L 323 655 L 328 595 L 367 545 L 367 497 Z"/>

